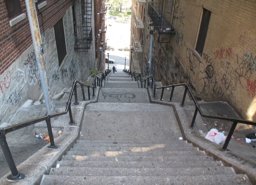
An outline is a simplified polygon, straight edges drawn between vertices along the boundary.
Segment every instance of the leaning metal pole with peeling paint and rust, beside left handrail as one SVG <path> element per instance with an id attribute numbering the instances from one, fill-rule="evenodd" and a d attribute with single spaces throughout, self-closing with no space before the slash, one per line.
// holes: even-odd
<path id="1" fill-rule="evenodd" d="M 39 67 L 39 74 L 41 77 L 41 83 L 43 87 L 43 93 L 44 93 L 47 112 L 48 114 L 53 114 L 55 112 L 54 111 L 55 102 L 53 101 L 53 97 L 50 91 L 48 76 L 46 74 L 44 50 L 43 50 L 43 44 L 42 44 L 41 34 L 39 30 L 36 7 L 34 4 L 34 0 L 25 0 L 25 3 L 27 8 L 27 16 L 28 16 L 29 26 L 31 30 L 32 39 L 33 39 L 36 59 Z"/>

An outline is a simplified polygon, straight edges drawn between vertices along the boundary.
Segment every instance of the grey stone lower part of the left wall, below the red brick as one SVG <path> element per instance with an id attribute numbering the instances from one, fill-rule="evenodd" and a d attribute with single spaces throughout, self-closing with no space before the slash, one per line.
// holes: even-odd
<path id="1" fill-rule="evenodd" d="M 92 16 L 92 22 L 94 16 Z M 58 94 L 65 86 L 72 86 L 74 80 L 87 80 L 90 68 L 95 68 L 95 45 L 87 52 L 74 50 L 72 6 L 63 16 L 67 55 L 59 67 L 54 28 L 41 33 L 46 62 L 46 72 L 52 95 Z M 92 30 L 94 25 L 92 24 Z M 94 32 L 92 32 L 94 38 Z M 33 45 L 21 53 L 15 62 L 0 76 L 0 123 L 9 122 L 16 110 L 27 100 L 34 102 L 43 98 L 42 84 Z"/>

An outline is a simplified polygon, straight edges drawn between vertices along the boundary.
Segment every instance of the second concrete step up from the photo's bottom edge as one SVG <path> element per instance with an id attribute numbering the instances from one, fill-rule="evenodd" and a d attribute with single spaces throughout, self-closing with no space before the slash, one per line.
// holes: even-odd
<path id="1" fill-rule="evenodd" d="M 208 167 L 208 168 L 93 168 L 93 167 L 59 167 L 53 168 L 50 172 L 50 175 L 68 175 L 68 176 L 159 176 L 165 177 L 168 175 L 172 176 L 200 176 L 204 175 L 220 175 L 220 174 L 232 174 L 234 175 L 234 171 L 230 167 Z"/>

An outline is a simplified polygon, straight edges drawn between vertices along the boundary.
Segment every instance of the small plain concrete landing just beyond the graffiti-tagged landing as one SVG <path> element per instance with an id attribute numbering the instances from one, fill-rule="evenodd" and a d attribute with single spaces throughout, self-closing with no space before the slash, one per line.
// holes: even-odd
<path id="1" fill-rule="evenodd" d="M 105 88 L 139 88 L 138 82 L 136 81 L 105 81 Z"/>

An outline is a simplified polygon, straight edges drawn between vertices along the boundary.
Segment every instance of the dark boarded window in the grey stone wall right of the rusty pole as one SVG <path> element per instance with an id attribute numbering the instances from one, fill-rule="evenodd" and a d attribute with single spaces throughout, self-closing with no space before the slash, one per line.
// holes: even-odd
<path id="1" fill-rule="evenodd" d="M 55 33 L 55 40 L 56 40 L 57 53 L 58 53 L 59 66 L 60 66 L 67 54 L 62 18 L 59 22 L 57 22 L 57 24 L 55 24 L 54 33 Z"/>

